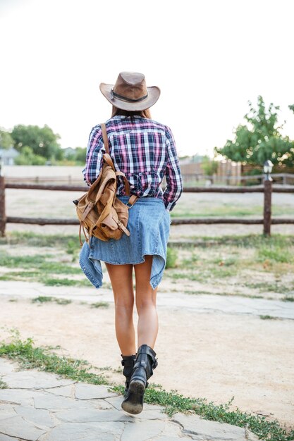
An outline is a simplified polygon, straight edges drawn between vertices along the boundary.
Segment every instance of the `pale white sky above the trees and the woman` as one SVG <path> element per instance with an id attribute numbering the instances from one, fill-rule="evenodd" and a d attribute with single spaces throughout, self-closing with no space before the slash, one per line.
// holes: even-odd
<path id="1" fill-rule="evenodd" d="M 294 139 L 292 0 L 0 0 L 0 127 L 49 125 L 86 147 L 111 116 L 100 82 L 145 74 L 180 156 L 213 155 L 248 101 L 281 107 Z"/>

